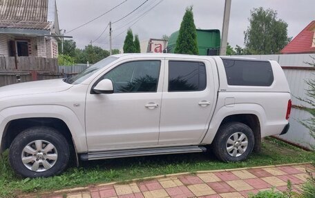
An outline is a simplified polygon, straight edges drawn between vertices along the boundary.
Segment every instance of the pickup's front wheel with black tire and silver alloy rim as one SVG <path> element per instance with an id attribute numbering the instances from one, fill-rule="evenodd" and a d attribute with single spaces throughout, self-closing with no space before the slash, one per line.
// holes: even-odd
<path id="1" fill-rule="evenodd" d="M 12 141 L 9 150 L 13 170 L 17 175 L 31 178 L 59 175 L 68 165 L 69 156 L 66 138 L 46 126 L 23 130 Z"/>

